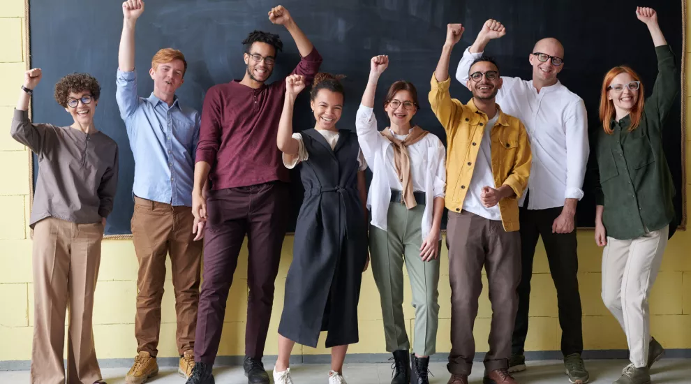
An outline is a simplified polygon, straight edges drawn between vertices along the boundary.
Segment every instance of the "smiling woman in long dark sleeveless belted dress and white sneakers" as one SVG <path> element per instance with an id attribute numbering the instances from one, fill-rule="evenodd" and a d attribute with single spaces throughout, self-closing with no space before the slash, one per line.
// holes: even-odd
<path id="1" fill-rule="evenodd" d="M 343 360 L 348 345 L 358 340 L 357 302 L 368 262 L 367 164 L 355 132 L 336 128 L 343 112 L 339 77 L 328 73 L 314 77 L 310 104 L 316 124 L 292 133 L 295 98 L 305 84 L 302 75 L 285 79 L 276 137 L 283 164 L 299 165 L 305 195 L 285 279 L 274 383 L 292 384 L 289 360 L 296 342 L 315 348 L 320 331 L 327 331 L 326 347 L 332 348 L 329 384 L 345 384 Z"/>

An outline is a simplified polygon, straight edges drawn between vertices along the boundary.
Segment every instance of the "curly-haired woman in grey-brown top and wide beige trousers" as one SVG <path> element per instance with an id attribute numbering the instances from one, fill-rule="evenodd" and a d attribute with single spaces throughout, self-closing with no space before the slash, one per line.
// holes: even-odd
<path id="1" fill-rule="evenodd" d="M 39 68 L 24 74 L 11 129 L 12 137 L 38 156 L 29 222 L 34 229 L 31 383 L 64 383 L 65 376 L 70 384 L 104 383 L 91 318 L 105 218 L 117 189 L 117 144 L 94 126 L 101 87 L 87 73 L 66 75 L 55 84 L 55 100 L 73 124 L 32 124 L 29 98 L 40 79 Z"/>

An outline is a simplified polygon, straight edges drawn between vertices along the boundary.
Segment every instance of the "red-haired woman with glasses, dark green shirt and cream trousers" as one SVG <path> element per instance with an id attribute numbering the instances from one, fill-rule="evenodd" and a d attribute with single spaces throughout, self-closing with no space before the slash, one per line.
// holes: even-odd
<path id="1" fill-rule="evenodd" d="M 678 94 L 674 54 L 657 14 L 637 8 L 655 43 L 657 79 L 644 87 L 631 68 L 612 68 L 600 98 L 602 130 L 595 142 L 595 242 L 602 255 L 602 300 L 623 328 L 631 364 L 616 384 L 650 383 L 649 369 L 664 350 L 650 335 L 648 296 L 674 219 L 674 186 L 662 150 L 662 128 Z"/>

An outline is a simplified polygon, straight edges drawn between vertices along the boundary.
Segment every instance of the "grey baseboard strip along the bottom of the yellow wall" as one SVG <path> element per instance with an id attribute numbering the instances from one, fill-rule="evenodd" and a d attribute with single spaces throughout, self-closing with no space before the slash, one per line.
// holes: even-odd
<path id="1" fill-rule="evenodd" d="M 667 349 L 664 351 L 667 359 L 691 359 L 691 349 Z M 606 349 L 606 350 L 584 350 L 585 360 L 625 360 L 628 358 L 629 351 L 625 349 Z M 448 353 L 436 353 L 430 358 L 431 362 L 445 362 Z M 345 356 L 346 364 L 375 364 L 388 363 L 388 353 L 352 353 Z M 475 361 L 481 362 L 484 353 L 476 353 Z M 244 356 L 218 356 L 216 366 L 239 366 L 242 365 Z M 559 350 L 538 350 L 526 352 L 526 360 L 563 360 L 563 355 Z M 276 355 L 267 355 L 263 361 L 267 365 L 276 362 Z M 129 368 L 133 359 L 100 359 L 98 364 L 101 368 Z M 293 355 L 290 357 L 290 364 L 329 364 L 331 355 Z M 158 359 L 159 367 L 177 367 L 179 359 L 177 357 L 161 357 Z M 0 371 L 28 371 L 31 368 L 31 360 L 6 360 L 0 361 Z"/>

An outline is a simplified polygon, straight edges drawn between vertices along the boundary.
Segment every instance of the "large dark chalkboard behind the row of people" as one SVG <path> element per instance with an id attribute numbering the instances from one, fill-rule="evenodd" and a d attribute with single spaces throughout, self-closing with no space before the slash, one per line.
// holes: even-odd
<path id="1" fill-rule="evenodd" d="M 450 22 L 461 22 L 466 34 L 452 55 L 451 73 L 463 50 L 475 40 L 489 17 L 505 24 L 507 35 L 487 48 L 500 64 L 503 75 L 530 78 L 528 54 L 535 41 L 553 36 L 566 48 L 565 68 L 559 78 L 579 94 L 588 109 L 590 129 L 596 129 L 597 103 L 602 77 L 609 68 L 629 64 L 643 78 L 647 89 L 655 80 L 657 66 L 653 43 L 630 0 L 286 0 L 282 5 L 324 57 L 322 71 L 342 73 L 345 108 L 340 128 L 354 129 L 355 112 L 369 73 L 369 59 L 388 54 L 389 69 L 380 79 L 376 105 L 394 80 L 416 84 L 421 110 L 415 122 L 445 141 L 445 133 L 429 109 L 427 93 Z M 67 73 L 88 72 L 103 87 L 96 112 L 96 126 L 116 140 L 120 149 L 120 177 L 115 209 L 108 219 L 107 235 L 130 233 L 133 212 L 131 187 L 134 161 L 125 126 L 115 103 L 115 72 L 122 28 L 121 1 L 31 0 L 31 66 L 43 68 L 43 81 L 34 93 L 34 121 L 70 124 L 69 115 L 52 97 L 52 86 Z M 198 110 L 209 87 L 242 78 L 242 40 L 253 29 L 278 33 L 284 52 L 278 55 L 274 75 L 281 80 L 299 60 L 288 31 L 269 22 L 267 12 L 274 2 L 264 0 L 149 0 L 137 24 L 136 68 L 139 94 L 148 96 L 153 82 L 147 75 L 151 57 L 161 47 L 175 47 L 186 55 L 188 71 L 178 96 Z M 677 54 L 681 69 L 683 54 L 683 1 L 649 0 L 657 10 L 664 36 Z M 681 71 L 680 71 L 681 72 Z M 17 80 L 18 81 L 18 80 Z M 452 96 L 466 102 L 470 92 L 455 80 Z M 386 118 L 376 109 L 380 128 Z M 313 118 L 306 93 L 296 107 L 295 127 L 311 128 Z M 664 147 L 676 184 L 674 201 L 681 219 L 682 137 L 681 97 L 674 107 L 664 137 Z M 36 167 L 36 162 L 34 162 Z M 36 169 L 36 168 L 35 168 Z M 35 173 L 36 174 L 36 173 Z M 295 202 L 292 224 L 302 200 L 302 186 L 292 174 Z M 591 227 L 594 219 L 592 193 L 579 204 L 579 226 Z"/>

